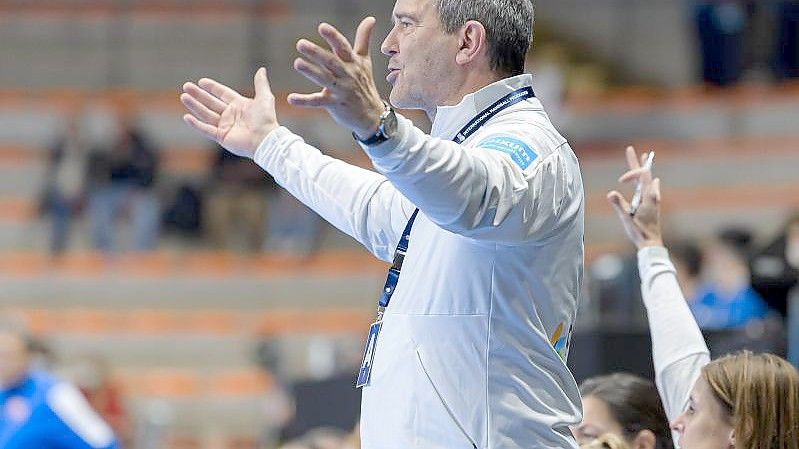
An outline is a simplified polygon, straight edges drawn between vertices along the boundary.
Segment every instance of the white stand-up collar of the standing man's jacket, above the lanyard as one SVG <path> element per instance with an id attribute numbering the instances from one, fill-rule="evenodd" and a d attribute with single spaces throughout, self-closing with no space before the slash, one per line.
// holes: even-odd
<path id="1" fill-rule="evenodd" d="M 430 134 L 433 137 L 450 139 L 479 112 L 514 90 L 532 84 L 533 76 L 529 74 L 505 78 L 466 95 L 455 106 L 439 106 L 436 109 L 436 118 L 433 121 Z M 542 108 L 541 102 L 537 98 L 532 98 L 530 101 L 533 103 L 533 108 Z"/>

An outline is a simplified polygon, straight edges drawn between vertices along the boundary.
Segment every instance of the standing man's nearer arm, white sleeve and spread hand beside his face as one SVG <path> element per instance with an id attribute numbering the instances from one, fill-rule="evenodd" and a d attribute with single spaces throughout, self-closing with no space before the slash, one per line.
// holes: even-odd
<path id="1" fill-rule="evenodd" d="M 291 94 L 289 103 L 324 108 L 359 137 L 373 135 L 385 110 L 369 57 L 373 27 L 372 18 L 361 22 L 352 46 L 328 24 L 319 26 L 319 34 L 329 49 L 300 40 L 297 50 L 302 57 L 294 68 L 322 90 Z M 519 128 L 529 131 L 518 134 Z M 539 131 L 531 130 L 529 123 L 512 123 L 496 132 L 524 141 L 528 151 L 520 156 L 534 159 L 534 148 L 561 144 L 553 144 Z M 582 212 L 582 186 L 576 179 L 577 162 L 571 151 L 520 167 L 495 149 L 467 150 L 458 143 L 433 138 L 400 116 L 396 135 L 366 152 L 374 167 L 427 218 L 472 238 L 515 243 L 533 235 L 545 237 L 542 231 L 567 221 L 564 217 L 576 219 Z M 569 201 L 563 201 L 564 196 Z"/>

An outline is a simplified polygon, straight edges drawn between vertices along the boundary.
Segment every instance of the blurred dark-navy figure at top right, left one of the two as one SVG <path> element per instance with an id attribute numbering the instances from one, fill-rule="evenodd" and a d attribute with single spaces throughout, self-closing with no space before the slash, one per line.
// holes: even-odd
<path id="1" fill-rule="evenodd" d="M 743 70 L 746 10 L 737 0 L 694 2 L 702 79 L 717 86 L 735 83 Z"/>

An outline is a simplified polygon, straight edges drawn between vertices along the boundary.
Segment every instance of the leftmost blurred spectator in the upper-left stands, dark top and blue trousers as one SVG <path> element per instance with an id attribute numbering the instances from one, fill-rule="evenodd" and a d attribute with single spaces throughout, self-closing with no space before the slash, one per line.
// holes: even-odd
<path id="1" fill-rule="evenodd" d="M 80 126 L 78 113 L 68 117 L 66 128 L 48 157 L 40 208 L 52 221 L 50 251 L 53 254 L 66 249 L 70 225 L 83 203 L 88 151 Z"/>

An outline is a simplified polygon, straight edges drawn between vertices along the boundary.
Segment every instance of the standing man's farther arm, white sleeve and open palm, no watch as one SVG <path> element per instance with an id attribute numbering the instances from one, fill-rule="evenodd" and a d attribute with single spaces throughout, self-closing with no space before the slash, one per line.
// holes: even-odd
<path id="1" fill-rule="evenodd" d="M 255 159 L 300 201 L 380 259 L 391 260 L 413 207 L 385 177 L 325 156 L 281 128 L 265 69 L 255 74 L 253 98 L 208 78 L 183 89 L 189 126 Z"/>

